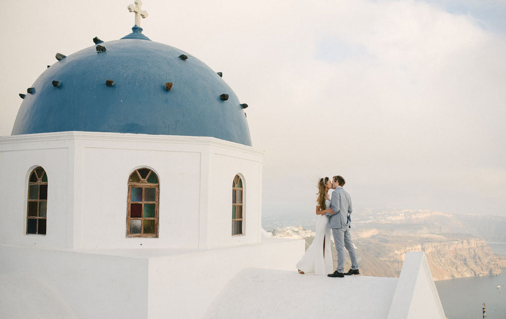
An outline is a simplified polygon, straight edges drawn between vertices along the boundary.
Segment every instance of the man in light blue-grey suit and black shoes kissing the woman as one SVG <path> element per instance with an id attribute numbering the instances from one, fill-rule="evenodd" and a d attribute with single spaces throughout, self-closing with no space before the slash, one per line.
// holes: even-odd
<path id="1" fill-rule="evenodd" d="M 351 198 L 348 192 L 343 189 L 346 181 L 342 176 L 332 177 L 332 198 L 330 199 L 330 208 L 333 214 L 325 213 L 328 216 L 328 228 L 332 229 L 334 235 L 335 249 L 338 251 L 338 269 L 328 277 L 345 277 L 349 275 L 359 275 L 357 254 L 355 246 L 351 241 L 350 235 L 350 214 L 352 213 Z M 350 254 L 351 269 L 344 273 L 345 247 Z"/>

